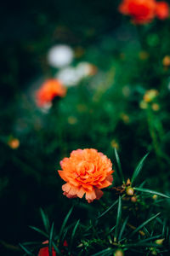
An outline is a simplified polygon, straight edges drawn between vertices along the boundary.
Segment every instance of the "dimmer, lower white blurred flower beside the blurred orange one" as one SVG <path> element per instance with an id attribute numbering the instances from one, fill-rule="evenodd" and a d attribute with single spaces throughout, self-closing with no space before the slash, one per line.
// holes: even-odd
<path id="1" fill-rule="evenodd" d="M 81 79 L 81 77 L 77 74 L 77 69 L 74 67 L 65 67 L 59 70 L 56 78 L 67 87 L 77 85 Z"/>

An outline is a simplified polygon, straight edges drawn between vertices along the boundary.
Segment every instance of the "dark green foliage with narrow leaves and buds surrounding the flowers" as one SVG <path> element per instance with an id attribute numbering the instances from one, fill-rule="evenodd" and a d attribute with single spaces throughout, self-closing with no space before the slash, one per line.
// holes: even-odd
<path id="1" fill-rule="evenodd" d="M 134 25 L 120 3 L 25 1 L 14 13 L 3 3 L 1 255 L 37 255 L 47 240 L 72 256 L 170 251 L 170 19 Z M 69 67 L 91 69 L 39 108 L 36 91 L 62 69 L 48 63 L 55 44 L 71 46 Z M 113 163 L 112 186 L 91 204 L 62 195 L 59 161 L 77 148 Z"/>

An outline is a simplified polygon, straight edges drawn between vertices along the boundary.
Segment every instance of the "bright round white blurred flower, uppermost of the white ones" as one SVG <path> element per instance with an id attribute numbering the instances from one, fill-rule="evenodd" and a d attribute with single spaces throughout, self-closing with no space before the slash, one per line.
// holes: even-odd
<path id="1" fill-rule="evenodd" d="M 74 53 L 70 46 L 55 45 L 48 51 L 48 63 L 52 67 L 65 67 L 71 64 Z"/>

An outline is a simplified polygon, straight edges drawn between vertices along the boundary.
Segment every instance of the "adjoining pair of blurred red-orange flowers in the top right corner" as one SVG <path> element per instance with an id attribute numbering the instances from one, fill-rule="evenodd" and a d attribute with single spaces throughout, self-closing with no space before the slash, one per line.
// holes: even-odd
<path id="1" fill-rule="evenodd" d="M 155 17 L 165 20 L 169 16 L 167 2 L 156 0 L 122 0 L 119 11 L 123 15 L 131 16 L 135 24 L 149 23 Z"/>

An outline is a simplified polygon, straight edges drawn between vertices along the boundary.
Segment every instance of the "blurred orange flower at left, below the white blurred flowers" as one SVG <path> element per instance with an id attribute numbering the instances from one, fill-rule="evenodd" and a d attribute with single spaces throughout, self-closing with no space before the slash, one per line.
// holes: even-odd
<path id="1" fill-rule="evenodd" d="M 63 84 L 57 79 L 48 79 L 45 81 L 41 88 L 37 90 L 37 105 L 44 107 L 52 102 L 55 96 L 63 97 L 66 94 L 66 89 Z"/>

